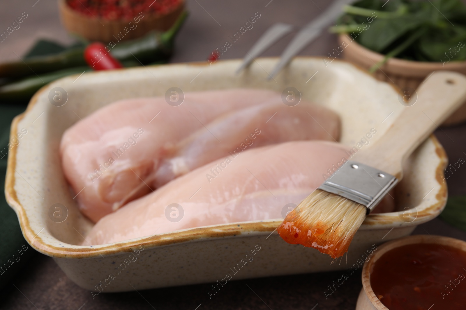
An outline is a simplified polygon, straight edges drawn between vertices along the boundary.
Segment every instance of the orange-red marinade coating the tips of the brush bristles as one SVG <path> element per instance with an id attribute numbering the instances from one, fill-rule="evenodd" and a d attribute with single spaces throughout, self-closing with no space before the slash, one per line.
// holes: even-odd
<path id="1" fill-rule="evenodd" d="M 289 244 L 302 244 L 306 247 L 315 248 L 332 258 L 340 257 L 348 251 L 350 242 L 345 242 L 341 238 L 340 240 L 336 240 L 336 238 L 321 237 L 331 227 L 325 227 L 322 223 L 309 227 L 305 223 L 300 223 L 299 220 L 293 222 L 294 212 L 290 212 L 283 223 L 277 228 L 278 234 L 283 240 Z M 351 236 L 349 240 L 352 239 L 353 237 Z"/>

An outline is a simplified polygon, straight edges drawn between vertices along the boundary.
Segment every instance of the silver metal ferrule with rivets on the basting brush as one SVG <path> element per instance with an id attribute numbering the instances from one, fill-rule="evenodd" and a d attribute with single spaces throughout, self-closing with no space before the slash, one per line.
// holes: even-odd
<path id="1" fill-rule="evenodd" d="M 363 204 L 369 214 L 397 182 L 398 179 L 391 174 L 348 161 L 319 189 Z"/>

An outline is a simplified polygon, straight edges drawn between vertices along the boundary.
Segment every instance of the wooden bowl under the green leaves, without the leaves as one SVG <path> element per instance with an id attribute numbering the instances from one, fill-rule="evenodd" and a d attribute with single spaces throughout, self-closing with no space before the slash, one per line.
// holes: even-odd
<path id="1" fill-rule="evenodd" d="M 342 52 L 343 58 L 363 69 L 367 70 L 378 61 L 384 59 L 384 55 L 365 48 L 347 34 L 340 35 L 339 43 L 340 46 L 346 46 Z M 422 62 L 391 58 L 374 73 L 374 77 L 390 84 L 393 83 L 402 90 L 407 87 L 416 89 L 433 71 L 439 70 L 456 71 L 466 74 L 466 61 L 451 61 L 442 64 L 441 62 Z M 465 120 L 466 103 L 446 119 L 443 125 L 456 125 Z"/>

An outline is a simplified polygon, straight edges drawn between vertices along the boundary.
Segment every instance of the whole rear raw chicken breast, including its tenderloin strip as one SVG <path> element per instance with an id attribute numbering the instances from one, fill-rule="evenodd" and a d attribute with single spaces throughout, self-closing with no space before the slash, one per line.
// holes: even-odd
<path id="1" fill-rule="evenodd" d="M 130 99 L 98 110 L 65 132 L 62 165 L 79 192 L 81 211 L 96 222 L 151 188 L 230 152 L 291 140 L 338 140 L 339 133 L 336 113 L 304 100 L 286 106 L 279 93 L 270 91 L 186 93 L 176 107 L 164 98 Z"/>

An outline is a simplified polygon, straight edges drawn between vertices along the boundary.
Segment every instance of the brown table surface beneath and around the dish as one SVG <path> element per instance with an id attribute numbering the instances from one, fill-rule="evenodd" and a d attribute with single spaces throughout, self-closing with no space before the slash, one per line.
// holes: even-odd
<path id="1" fill-rule="evenodd" d="M 39 38 L 71 42 L 60 24 L 56 0 L 36 1 L 0 1 L 1 31 L 21 13 L 28 14 L 21 28 L 0 44 L 1 60 L 15 59 L 15 53 L 24 54 Z M 222 56 L 223 59 L 242 58 L 260 35 L 275 22 L 301 27 L 327 5 L 326 0 L 188 0 L 190 16 L 178 35 L 177 51 L 171 62 L 205 60 L 214 49 L 225 44 L 230 34 L 236 33 L 254 13 L 259 12 L 260 19 L 254 24 L 254 28 L 241 36 Z M 264 56 L 280 55 L 292 37 L 288 35 L 282 39 Z M 336 36 L 323 33 L 301 54 L 327 55 L 336 46 Z M 465 156 L 465 133 L 466 125 L 435 132 L 452 162 Z M 452 174 L 448 178 L 449 194 L 466 194 L 465 181 L 466 170 L 459 169 Z M 465 231 L 452 228 L 438 218 L 419 225 L 414 234 L 427 232 L 466 240 Z M 93 300 L 91 293 L 71 282 L 50 257 L 37 253 L 27 268 L 0 293 L 0 309 L 310 310 L 316 304 L 315 310 L 354 309 L 357 295 L 362 288 L 360 271 L 350 276 L 328 299 L 323 293 L 326 285 L 339 278 L 340 273 L 337 271 L 233 281 L 211 300 L 206 298 L 210 284 L 104 294 Z"/>

